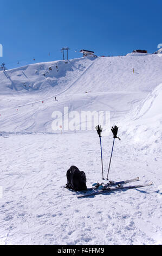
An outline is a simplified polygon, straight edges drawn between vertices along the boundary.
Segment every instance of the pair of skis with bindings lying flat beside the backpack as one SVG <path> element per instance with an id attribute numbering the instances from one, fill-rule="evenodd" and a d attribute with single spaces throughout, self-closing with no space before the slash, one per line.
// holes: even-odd
<path id="1" fill-rule="evenodd" d="M 135 179 L 131 179 L 131 180 L 124 180 L 124 181 L 119 181 L 119 182 L 108 182 L 107 184 L 94 184 L 93 188 L 90 188 L 90 190 L 94 190 L 94 192 L 92 193 L 86 193 L 82 196 L 79 196 L 77 198 L 83 198 L 83 197 L 90 197 L 90 196 L 95 196 L 97 194 L 103 194 L 106 192 L 112 192 L 112 191 L 117 191 L 117 190 L 130 190 L 133 188 L 140 188 L 140 187 L 147 187 L 147 186 L 151 186 L 152 182 L 149 182 L 147 184 L 144 185 L 134 185 L 134 186 L 122 186 L 124 184 L 133 182 L 133 181 L 139 181 L 139 177 L 135 178 Z M 116 187 L 112 187 L 112 186 L 116 186 Z M 96 191 L 97 190 L 97 191 Z M 100 190 L 100 191 L 99 191 Z"/>

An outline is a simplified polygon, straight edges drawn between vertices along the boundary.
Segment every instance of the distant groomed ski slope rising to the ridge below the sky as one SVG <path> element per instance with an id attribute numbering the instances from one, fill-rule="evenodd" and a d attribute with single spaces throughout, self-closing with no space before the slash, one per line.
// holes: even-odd
<path id="1" fill-rule="evenodd" d="M 130 54 L 1 71 L 1 131 L 53 132 L 51 114 L 62 112 L 63 106 L 76 111 L 111 111 L 113 124 L 161 83 L 161 65 L 156 54 Z"/>

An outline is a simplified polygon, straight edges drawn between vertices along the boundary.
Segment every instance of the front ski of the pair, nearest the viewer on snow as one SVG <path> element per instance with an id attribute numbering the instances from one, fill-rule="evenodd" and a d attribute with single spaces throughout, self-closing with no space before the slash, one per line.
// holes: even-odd
<path id="1" fill-rule="evenodd" d="M 77 198 L 95 196 L 97 194 L 103 194 L 106 192 L 112 192 L 112 191 L 116 191 L 116 190 L 131 190 L 132 188 L 147 187 L 147 186 L 151 186 L 152 184 L 153 184 L 153 182 L 149 182 L 144 185 L 134 185 L 134 186 L 127 186 L 127 187 L 115 187 L 115 188 L 107 187 L 107 188 L 103 189 L 102 191 L 97 191 L 97 192 L 90 193 L 90 194 L 84 194 L 83 196 L 79 196 Z"/>

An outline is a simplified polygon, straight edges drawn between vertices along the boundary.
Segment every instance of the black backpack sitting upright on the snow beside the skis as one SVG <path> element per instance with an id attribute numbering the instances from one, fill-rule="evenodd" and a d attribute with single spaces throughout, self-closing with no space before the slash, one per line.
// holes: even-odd
<path id="1" fill-rule="evenodd" d="M 87 190 L 86 181 L 85 172 L 80 172 L 76 166 L 71 166 L 67 171 L 67 188 L 74 191 Z"/>

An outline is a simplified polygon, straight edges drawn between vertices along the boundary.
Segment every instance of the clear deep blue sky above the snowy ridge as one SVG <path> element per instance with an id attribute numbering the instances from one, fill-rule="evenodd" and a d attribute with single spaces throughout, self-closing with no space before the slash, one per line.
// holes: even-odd
<path id="1" fill-rule="evenodd" d="M 86 48 L 101 55 L 124 55 L 134 49 L 152 53 L 162 43 L 161 0 L 0 0 L 3 57 L 7 68 L 81 57 Z M 75 52 L 77 51 L 77 53 Z M 48 55 L 50 52 L 50 56 Z"/>

